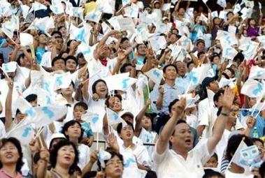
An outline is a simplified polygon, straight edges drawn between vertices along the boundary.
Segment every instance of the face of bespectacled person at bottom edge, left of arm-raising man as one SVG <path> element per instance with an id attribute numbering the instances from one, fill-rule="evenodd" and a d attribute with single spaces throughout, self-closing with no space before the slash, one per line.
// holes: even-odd
<path id="1" fill-rule="evenodd" d="M 113 156 L 106 163 L 105 174 L 107 177 L 121 177 L 123 172 L 123 163 L 118 156 Z"/>

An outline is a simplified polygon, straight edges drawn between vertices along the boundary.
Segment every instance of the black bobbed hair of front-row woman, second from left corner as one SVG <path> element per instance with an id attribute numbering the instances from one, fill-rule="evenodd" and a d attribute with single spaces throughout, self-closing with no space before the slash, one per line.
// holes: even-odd
<path id="1" fill-rule="evenodd" d="M 54 148 L 50 152 L 50 164 L 52 165 L 52 168 L 55 168 L 55 165 L 57 163 L 57 156 L 58 156 L 59 149 L 61 149 L 64 146 L 70 146 L 70 145 L 73 146 L 73 149 L 76 155 L 73 160 L 73 165 L 71 165 L 69 169 L 69 174 L 72 175 L 79 162 L 79 152 L 76 147 L 76 144 L 74 144 L 73 142 L 70 142 L 69 140 L 61 140 L 57 144 L 55 144 Z"/>

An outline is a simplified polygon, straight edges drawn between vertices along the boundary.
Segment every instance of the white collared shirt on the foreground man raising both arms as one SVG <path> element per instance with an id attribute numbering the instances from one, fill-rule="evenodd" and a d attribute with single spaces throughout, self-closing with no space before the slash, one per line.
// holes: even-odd
<path id="1" fill-rule="evenodd" d="M 155 170 L 157 170 L 157 177 L 203 177 L 203 165 L 213 154 L 208 151 L 207 141 L 201 140 L 196 144 L 196 147 L 189 151 L 186 160 L 172 149 L 169 149 L 169 145 L 163 154 L 158 154 L 156 144 L 153 161 Z"/>

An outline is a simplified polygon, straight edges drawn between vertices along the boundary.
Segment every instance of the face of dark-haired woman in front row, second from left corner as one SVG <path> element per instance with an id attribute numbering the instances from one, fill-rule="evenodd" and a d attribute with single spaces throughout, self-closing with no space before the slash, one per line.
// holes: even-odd
<path id="1" fill-rule="evenodd" d="M 58 150 L 57 164 L 71 166 L 76 157 L 75 149 L 72 145 L 65 145 Z"/>

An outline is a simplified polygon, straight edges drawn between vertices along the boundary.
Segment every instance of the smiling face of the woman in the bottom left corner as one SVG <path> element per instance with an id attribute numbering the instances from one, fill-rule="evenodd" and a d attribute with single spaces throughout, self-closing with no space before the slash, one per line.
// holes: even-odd
<path id="1" fill-rule="evenodd" d="M 20 154 L 17 147 L 12 142 L 6 142 L 0 149 L 0 160 L 3 165 L 13 165 L 17 163 Z"/>

